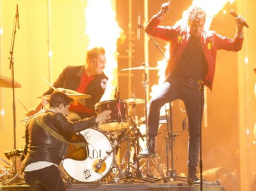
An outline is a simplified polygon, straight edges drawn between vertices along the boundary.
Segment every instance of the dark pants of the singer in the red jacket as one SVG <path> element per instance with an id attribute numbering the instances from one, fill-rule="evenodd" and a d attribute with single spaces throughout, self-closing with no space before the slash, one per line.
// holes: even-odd
<path id="1" fill-rule="evenodd" d="M 161 107 L 175 99 L 184 101 L 188 116 L 188 166 L 197 166 L 198 164 L 201 124 L 199 111 L 201 105 L 202 116 L 204 104 L 204 97 L 202 94 L 202 100 L 200 99 L 199 89 L 200 85 L 197 80 L 169 77 L 158 90 L 158 95 L 152 99 L 148 116 L 148 135 L 156 136 Z"/>

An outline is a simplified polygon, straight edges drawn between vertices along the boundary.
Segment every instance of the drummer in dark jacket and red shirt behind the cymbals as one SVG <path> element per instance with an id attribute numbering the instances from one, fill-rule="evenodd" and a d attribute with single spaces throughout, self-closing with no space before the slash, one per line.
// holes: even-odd
<path id="1" fill-rule="evenodd" d="M 70 120 L 88 118 L 95 114 L 94 105 L 100 101 L 108 81 L 108 77 L 103 72 L 105 64 L 104 48 L 92 48 L 87 51 L 85 65 L 66 67 L 54 82 L 54 88 L 65 88 L 91 96 L 87 99 L 79 99 L 70 105 Z M 43 95 L 49 95 L 52 92 L 53 88 L 49 88 Z M 47 103 L 45 99 L 40 100 L 33 109 L 27 111 L 26 115 L 37 114 Z"/>

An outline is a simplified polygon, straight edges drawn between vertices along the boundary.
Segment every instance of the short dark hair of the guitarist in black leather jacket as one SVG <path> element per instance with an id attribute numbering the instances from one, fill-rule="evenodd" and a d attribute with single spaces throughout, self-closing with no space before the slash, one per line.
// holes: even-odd
<path id="1" fill-rule="evenodd" d="M 50 107 L 59 107 L 61 103 L 64 106 L 72 103 L 74 100 L 71 97 L 68 97 L 64 92 L 55 91 L 51 94 L 49 105 Z"/>

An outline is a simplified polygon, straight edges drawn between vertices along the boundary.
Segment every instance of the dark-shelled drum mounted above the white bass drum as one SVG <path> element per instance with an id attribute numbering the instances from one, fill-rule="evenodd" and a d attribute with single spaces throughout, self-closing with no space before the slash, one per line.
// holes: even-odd
<path id="1" fill-rule="evenodd" d="M 104 110 L 111 110 L 111 119 L 98 124 L 103 131 L 120 131 L 129 125 L 128 109 L 125 101 L 108 100 L 96 103 L 96 114 L 100 114 Z"/>

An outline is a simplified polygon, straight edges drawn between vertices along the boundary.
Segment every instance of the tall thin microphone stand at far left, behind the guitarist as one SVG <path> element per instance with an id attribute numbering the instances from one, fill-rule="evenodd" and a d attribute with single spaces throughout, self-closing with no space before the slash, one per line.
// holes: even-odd
<path id="1" fill-rule="evenodd" d="M 19 27 L 19 20 L 18 20 L 19 14 L 18 14 L 18 4 L 16 5 L 16 14 L 15 14 L 15 18 L 14 18 L 14 31 L 12 34 L 12 44 L 11 44 L 11 48 L 10 48 L 10 69 L 11 69 L 11 75 L 12 75 L 12 109 L 13 109 L 13 125 L 14 125 L 14 150 L 16 150 L 16 106 L 15 106 L 15 93 L 14 93 L 14 58 L 13 58 L 13 54 L 14 54 L 14 41 L 15 41 L 15 36 L 16 36 L 16 27 L 18 24 L 18 29 L 20 29 Z M 17 173 L 17 166 L 16 166 L 16 156 L 14 156 L 14 170 L 12 172 L 12 179 L 10 180 L 10 182 L 8 183 L 8 185 L 11 185 L 14 180 L 16 179 L 16 177 L 18 177 L 18 173 Z"/>

